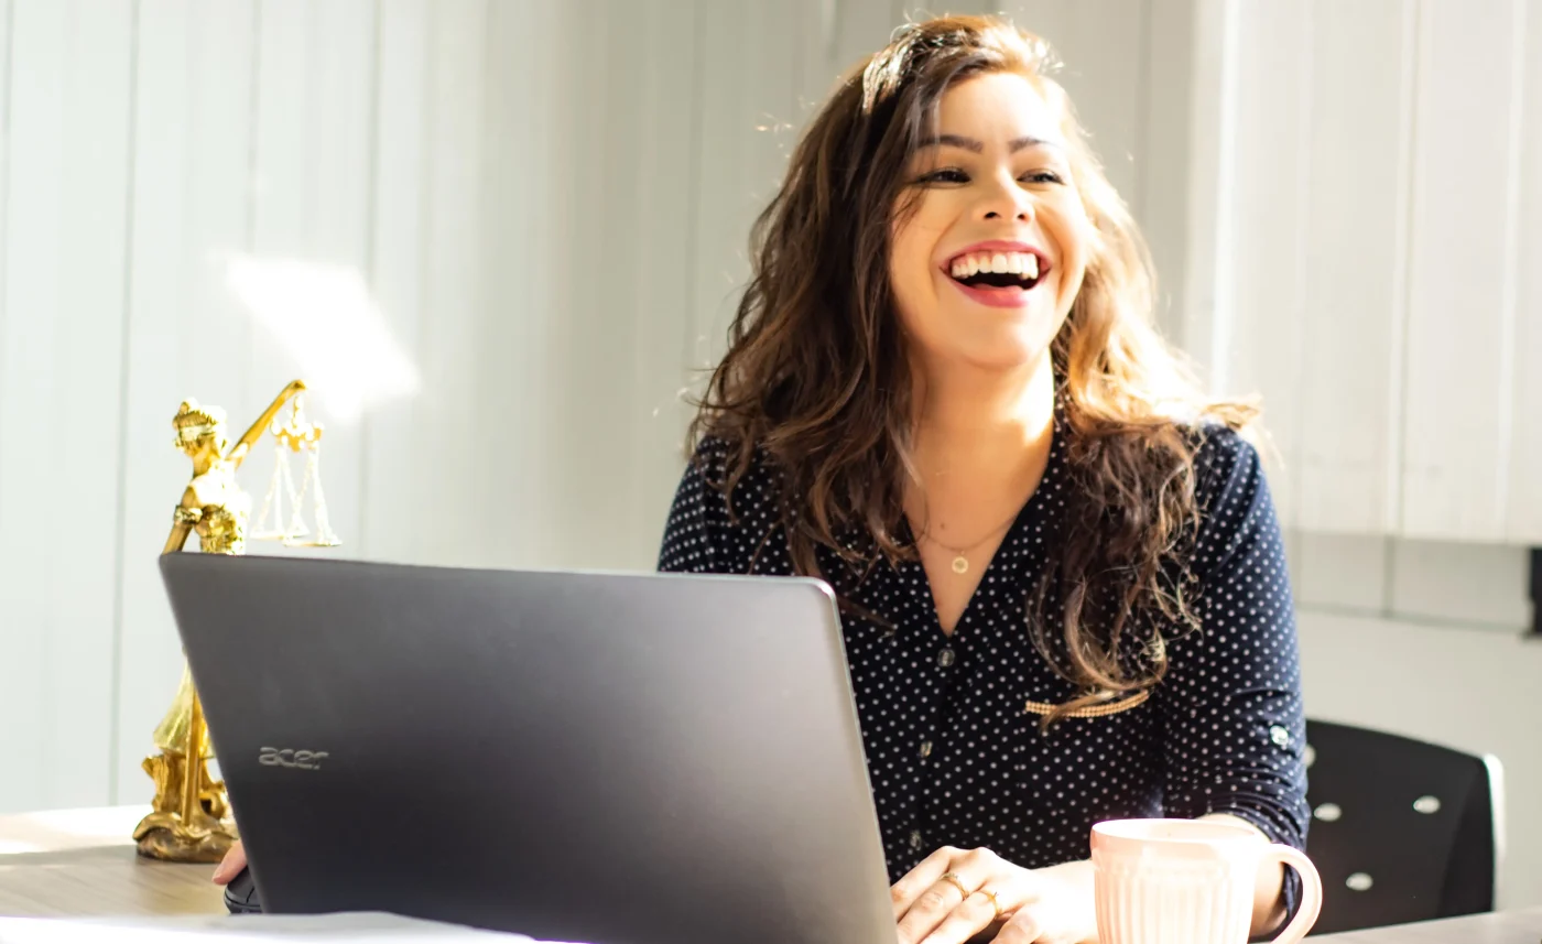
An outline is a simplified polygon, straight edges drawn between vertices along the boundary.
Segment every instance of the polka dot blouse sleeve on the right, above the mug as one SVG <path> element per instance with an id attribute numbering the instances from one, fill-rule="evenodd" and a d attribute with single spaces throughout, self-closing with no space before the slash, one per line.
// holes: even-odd
<path id="1" fill-rule="evenodd" d="M 1305 850 L 1301 671 L 1269 487 L 1257 450 L 1227 429 L 1209 433 L 1195 464 L 1204 518 L 1187 589 L 1200 629 L 1167 645 L 1153 699 L 1166 807 L 1178 818 L 1229 813 Z"/>

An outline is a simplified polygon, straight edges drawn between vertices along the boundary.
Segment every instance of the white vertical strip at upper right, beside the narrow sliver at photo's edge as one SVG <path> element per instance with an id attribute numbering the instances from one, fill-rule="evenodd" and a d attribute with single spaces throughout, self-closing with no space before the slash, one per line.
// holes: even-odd
<path id="1" fill-rule="evenodd" d="M 1523 0 L 1425 0 L 1403 386 L 1402 532 L 1502 540 L 1514 370 Z"/>

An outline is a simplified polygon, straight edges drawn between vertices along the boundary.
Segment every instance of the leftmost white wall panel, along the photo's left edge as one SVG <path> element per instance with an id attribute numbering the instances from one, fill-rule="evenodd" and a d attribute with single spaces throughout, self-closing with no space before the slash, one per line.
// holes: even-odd
<path id="1" fill-rule="evenodd" d="M 0 665 L 26 668 L 0 694 L 0 796 L 91 802 L 111 757 L 134 11 L 9 12 Z"/>

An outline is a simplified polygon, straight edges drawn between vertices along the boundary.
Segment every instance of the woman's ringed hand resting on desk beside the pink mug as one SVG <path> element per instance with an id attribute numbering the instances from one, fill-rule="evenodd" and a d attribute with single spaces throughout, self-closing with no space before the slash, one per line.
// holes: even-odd
<path id="1" fill-rule="evenodd" d="M 899 944 L 964 944 L 985 929 L 1001 944 L 1096 941 L 1092 876 L 1092 862 L 1022 868 L 988 848 L 939 848 L 890 890 Z"/>

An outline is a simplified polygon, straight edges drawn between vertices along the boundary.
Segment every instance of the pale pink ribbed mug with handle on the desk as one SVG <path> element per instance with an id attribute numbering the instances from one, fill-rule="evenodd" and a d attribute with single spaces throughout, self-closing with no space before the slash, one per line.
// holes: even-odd
<path id="1" fill-rule="evenodd" d="M 1275 938 L 1312 930 L 1323 882 L 1312 861 L 1235 824 L 1113 819 L 1092 827 L 1101 944 L 1244 944 L 1258 867 L 1278 859 L 1301 876 L 1301 905 Z"/>

